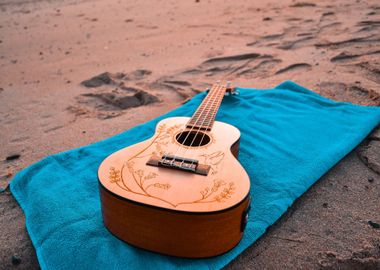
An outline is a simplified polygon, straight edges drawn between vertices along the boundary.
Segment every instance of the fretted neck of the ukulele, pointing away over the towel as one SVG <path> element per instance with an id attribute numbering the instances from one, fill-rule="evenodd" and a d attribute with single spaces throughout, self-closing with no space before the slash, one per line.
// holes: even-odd
<path id="1" fill-rule="evenodd" d="M 220 104 L 222 103 L 224 94 L 231 92 L 232 88 L 228 85 L 214 84 L 206 98 L 195 111 L 186 127 L 196 130 L 210 131 L 215 122 Z"/>

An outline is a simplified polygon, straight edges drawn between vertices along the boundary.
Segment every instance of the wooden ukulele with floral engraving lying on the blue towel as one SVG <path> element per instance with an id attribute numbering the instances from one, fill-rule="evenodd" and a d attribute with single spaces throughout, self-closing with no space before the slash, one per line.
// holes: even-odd
<path id="1" fill-rule="evenodd" d="M 162 254 L 204 258 L 243 236 L 249 176 L 237 160 L 240 131 L 215 121 L 229 85 L 214 84 L 189 117 L 161 120 L 154 135 L 108 156 L 98 171 L 105 226 Z"/>

